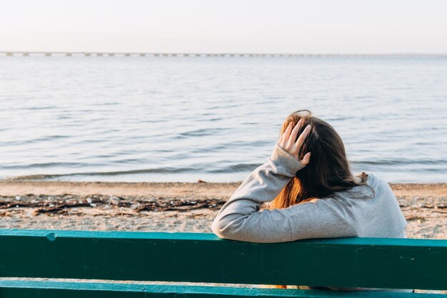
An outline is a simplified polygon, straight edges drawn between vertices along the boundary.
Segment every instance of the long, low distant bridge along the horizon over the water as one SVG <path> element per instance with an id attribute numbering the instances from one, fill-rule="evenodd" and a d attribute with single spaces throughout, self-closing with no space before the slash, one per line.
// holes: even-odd
<path id="1" fill-rule="evenodd" d="M 443 57 L 447 58 L 445 54 L 428 54 L 428 53 L 389 53 L 389 54 L 308 54 L 308 53 L 139 53 L 139 52 L 51 52 L 51 51 L 0 51 L 0 56 L 96 56 L 96 57 Z"/>

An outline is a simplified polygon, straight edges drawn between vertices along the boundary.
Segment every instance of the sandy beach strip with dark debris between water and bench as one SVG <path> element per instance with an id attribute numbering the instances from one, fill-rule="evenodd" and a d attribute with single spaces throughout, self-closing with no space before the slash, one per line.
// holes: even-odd
<path id="1" fill-rule="evenodd" d="M 0 228 L 211 232 L 240 183 L 0 181 Z M 447 183 L 390 184 L 410 238 L 447 239 Z"/>

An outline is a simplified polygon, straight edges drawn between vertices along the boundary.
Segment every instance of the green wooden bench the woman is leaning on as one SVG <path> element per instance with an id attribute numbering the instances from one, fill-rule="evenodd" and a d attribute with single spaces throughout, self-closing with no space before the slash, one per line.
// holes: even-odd
<path id="1" fill-rule="evenodd" d="M 196 233 L 0 230 L 0 276 L 107 280 L 2 278 L 0 297 L 433 297 L 437 294 L 236 284 L 445 290 L 447 240 L 339 238 L 258 244 Z"/>

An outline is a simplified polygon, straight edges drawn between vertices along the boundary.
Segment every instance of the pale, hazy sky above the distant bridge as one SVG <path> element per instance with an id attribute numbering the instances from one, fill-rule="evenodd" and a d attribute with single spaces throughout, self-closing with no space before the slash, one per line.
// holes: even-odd
<path id="1" fill-rule="evenodd" d="M 0 51 L 447 53 L 447 1 L 9 0 Z"/>

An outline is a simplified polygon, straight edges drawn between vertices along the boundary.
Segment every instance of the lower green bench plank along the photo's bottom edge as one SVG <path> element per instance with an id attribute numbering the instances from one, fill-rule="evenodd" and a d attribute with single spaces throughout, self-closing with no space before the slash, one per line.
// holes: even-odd
<path id="1" fill-rule="evenodd" d="M 414 297 L 433 298 L 437 294 L 396 292 L 340 292 L 243 287 L 201 287 L 159 284 L 108 284 L 96 282 L 34 282 L 0 280 L 2 298 L 140 298 L 140 297 Z"/>

